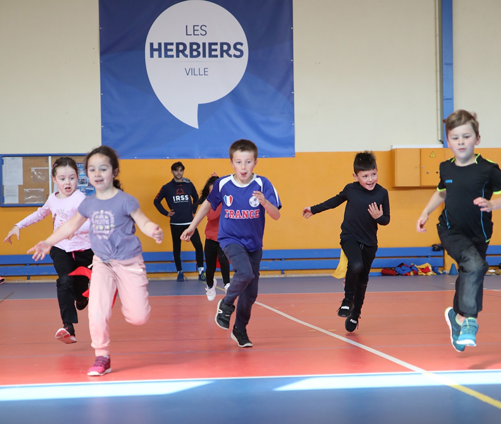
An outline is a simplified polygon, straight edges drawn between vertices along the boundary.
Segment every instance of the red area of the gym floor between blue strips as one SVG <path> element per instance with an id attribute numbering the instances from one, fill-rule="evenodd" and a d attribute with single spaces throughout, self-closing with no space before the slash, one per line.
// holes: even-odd
<path id="1" fill-rule="evenodd" d="M 261 294 L 258 302 L 427 371 L 501 368 L 501 293 L 484 292 L 478 345 L 463 353 L 450 345 L 443 318 L 452 294 L 368 293 L 354 333 L 336 315 L 340 294 Z M 88 377 L 94 352 L 85 313 L 75 326 L 78 342 L 65 345 L 54 338 L 60 321 L 55 299 L 7 299 L 0 306 L 0 384 L 409 371 L 259 304 L 247 328 L 254 347 L 239 348 L 214 323 L 216 301 L 150 297 L 150 321 L 134 327 L 125 323 L 117 299 L 110 323 L 113 372 Z"/>

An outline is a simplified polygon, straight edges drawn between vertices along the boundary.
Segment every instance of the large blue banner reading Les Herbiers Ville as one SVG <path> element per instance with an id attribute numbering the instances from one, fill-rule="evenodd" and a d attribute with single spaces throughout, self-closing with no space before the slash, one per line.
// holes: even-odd
<path id="1" fill-rule="evenodd" d="M 102 144 L 122 158 L 294 156 L 292 0 L 99 0 Z"/>

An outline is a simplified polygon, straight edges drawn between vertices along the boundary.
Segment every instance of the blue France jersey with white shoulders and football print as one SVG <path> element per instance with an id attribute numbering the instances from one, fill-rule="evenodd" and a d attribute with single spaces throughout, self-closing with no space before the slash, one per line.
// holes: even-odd
<path id="1" fill-rule="evenodd" d="M 221 248 L 237 243 L 249 252 L 263 247 L 266 210 L 253 191 L 262 191 L 268 201 L 282 207 L 277 190 L 268 178 L 254 174 L 244 186 L 235 182 L 233 175 L 217 179 L 207 201 L 216 209 L 222 203 L 217 241 Z"/>

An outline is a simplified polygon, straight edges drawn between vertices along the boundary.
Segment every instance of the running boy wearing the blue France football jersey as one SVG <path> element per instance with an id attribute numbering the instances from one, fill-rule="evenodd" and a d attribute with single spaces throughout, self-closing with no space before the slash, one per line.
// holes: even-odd
<path id="1" fill-rule="evenodd" d="M 249 140 L 235 141 L 229 147 L 229 159 L 235 172 L 214 181 L 212 191 L 198 208 L 181 240 L 189 241 L 210 208 L 215 210 L 222 203 L 217 241 L 231 263 L 234 275 L 226 296 L 217 304 L 215 322 L 223 330 L 229 329 L 238 297 L 231 338 L 239 347 L 252 347 L 246 328 L 258 296 L 265 212 L 278 220 L 282 204 L 268 178 L 253 173 L 258 163 L 256 144 Z"/>

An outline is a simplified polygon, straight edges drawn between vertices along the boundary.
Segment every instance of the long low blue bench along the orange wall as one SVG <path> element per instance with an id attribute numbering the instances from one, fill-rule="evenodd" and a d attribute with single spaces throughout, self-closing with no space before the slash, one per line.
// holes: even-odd
<path id="1" fill-rule="evenodd" d="M 261 271 L 280 272 L 325 270 L 333 272 L 339 263 L 341 249 L 283 249 L 264 250 Z M 490 246 L 489 265 L 501 263 L 501 246 Z M 497 256 L 490 256 L 490 255 Z M 175 273 L 172 252 L 144 252 L 146 271 L 149 274 Z M 195 252 L 181 252 L 183 271 L 196 272 Z M 443 252 L 433 252 L 431 247 L 379 248 L 372 264 L 371 275 L 381 275 L 381 268 L 394 268 L 401 263 L 443 267 Z M 31 255 L 0 255 L 0 276 L 55 276 L 50 256 L 35 262 Z"/>

